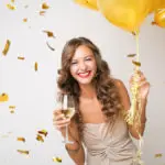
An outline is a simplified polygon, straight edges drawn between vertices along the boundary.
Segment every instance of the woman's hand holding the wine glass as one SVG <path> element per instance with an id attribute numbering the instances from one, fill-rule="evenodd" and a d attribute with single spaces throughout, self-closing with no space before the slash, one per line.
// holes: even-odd
<path id="1" fill-rule="evenodd" d="M 58 131 L 64 133 L 66 125 L 70 124 L 70 119 L 66 119 L 62 110 L 54 110 L 53 124 Z"/>

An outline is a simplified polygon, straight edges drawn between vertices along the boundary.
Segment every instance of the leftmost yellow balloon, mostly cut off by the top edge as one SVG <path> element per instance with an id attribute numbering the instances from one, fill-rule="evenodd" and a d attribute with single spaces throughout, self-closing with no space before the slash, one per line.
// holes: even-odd
<path id="1" fill-rule="evenodd" d="M 97 7 L 97 0 L 74 0 L 76 3 L 92 9 L 92 10 L 98 10 Z"/>

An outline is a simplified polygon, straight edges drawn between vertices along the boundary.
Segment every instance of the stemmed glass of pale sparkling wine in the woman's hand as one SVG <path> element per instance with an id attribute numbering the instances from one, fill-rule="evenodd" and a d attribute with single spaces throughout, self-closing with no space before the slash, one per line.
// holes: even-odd
<path id="1" fill-rule="evenodd" d="M 75 101 L 73 96 L 64 95 L 63 98 L 63 108 L 62 113 L 64 113 L 65 118 L 73 118 L 75 114 Z M 68 140 L 68 124 L 66 124 L 66 136 L 63 141 L 65 144 L 73 144 L 73 141 Z"/>

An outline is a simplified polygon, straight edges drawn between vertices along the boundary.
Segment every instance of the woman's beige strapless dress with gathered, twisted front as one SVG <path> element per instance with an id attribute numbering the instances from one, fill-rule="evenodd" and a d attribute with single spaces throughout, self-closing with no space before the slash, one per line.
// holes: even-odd
<path id="1" fill-rule="evenodd" d="M 138 165 L 133 163 L 136 146 L 122 118 L 113 124 L 85 123 L 82 141 L 87 147 L 87 165 Z"/>

